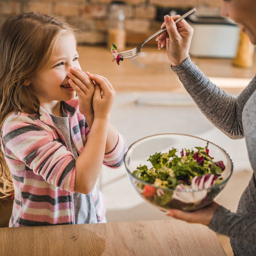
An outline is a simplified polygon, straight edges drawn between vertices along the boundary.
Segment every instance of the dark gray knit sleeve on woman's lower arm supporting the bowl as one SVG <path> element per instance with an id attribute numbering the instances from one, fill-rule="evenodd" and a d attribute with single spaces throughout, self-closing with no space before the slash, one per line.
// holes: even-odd
<path id="1" fill-rule="evenodd" d="M 256 244 L 256 218 L 252 214 L 233 213 L 219 206 L 209 228 L 237 241 L 244 241 L 254 246 Z"/>

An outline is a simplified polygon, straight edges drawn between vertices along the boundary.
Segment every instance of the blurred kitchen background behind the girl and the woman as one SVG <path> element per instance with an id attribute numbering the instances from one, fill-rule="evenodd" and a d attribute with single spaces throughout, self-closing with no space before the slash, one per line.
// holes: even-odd
<path id="1" fill-rule="evenodd" d="M 213 141 L 234 161 L 234 173 L 217 202 L 235 211 L 252 169 L 244 139 L 231 140 L 198 110 L 170 70 L 166 50 L 154 39 L 135 58 L 120 65 L 110 44 L 129 50 L 159 30 L 165 14 L 183 14 L 194 28 L 190 55 L 196 65 L 223 90 L 238 95 L 255 75 L 255 50 L 233 21 L 220 17 L 223 0 L 0 0 L 0 24 L 13 14 L 38 11 L 56 15 L 77 28 L 79 61 L 85 71 L 106 76 L 117 95 L 110 122 L 127 144 L 156 133 L 184 133 Z M 98 185 L 107 199 L 107 220 L 161 220 L 165 213 L 147 204 L 133 189 L 124 166 L 103 166 Z M 1 206 L 2 205 L 2 206 Z M 11 201 L 0 201 L 0 227 L 7 226 Z M 218 235 L 227 255 L 229 239 Z"/>

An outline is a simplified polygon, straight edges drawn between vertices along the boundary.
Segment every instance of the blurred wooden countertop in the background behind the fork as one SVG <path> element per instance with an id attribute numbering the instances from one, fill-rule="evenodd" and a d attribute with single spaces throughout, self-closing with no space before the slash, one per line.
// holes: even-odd
<path id="1" fill-rule="evenodd" d="M 125 59 L 120 65 L 112 62 L 107 47 L 79 46 L 78 52 L 82 69 L 107 77 L 117 92 L 185 92 L 179 78 L 170 70 L 165 49 L 143 47 L 137 57 Z M 249 69 L 239 68 L 232 65 L 231 59 L 191 59 L 212 82 L 229 93 L 241 92 L 256 72 L 256 65 Z M 146 63 L 146 68 L 134 62 L 137 65 Z"/>

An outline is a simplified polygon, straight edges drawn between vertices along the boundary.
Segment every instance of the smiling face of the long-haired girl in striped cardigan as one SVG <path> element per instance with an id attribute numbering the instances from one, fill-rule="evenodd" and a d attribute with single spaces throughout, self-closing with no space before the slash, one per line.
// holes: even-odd
<path id="1" fill-rule="evenodd" d="M 49 64 L 37 71 L 30 79 L 32 90 L 49 113 L 60 106 L 60 101 L 75 97 L 75 91 L 68 83 L 68 71 L 71 67 L 81 68 L 78 62 L 74 35 L 61 35 L 55 44 Z"/>

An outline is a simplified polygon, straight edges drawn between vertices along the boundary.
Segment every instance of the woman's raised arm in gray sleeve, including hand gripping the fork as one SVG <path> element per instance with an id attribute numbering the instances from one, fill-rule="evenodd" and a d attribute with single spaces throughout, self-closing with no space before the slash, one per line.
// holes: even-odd
<path id="1" fill-rule="evenodd" d="M 179 15 L 164 17 L 166 31 L 158 36 L 158 45 L 166 45 L 167 57 L 172 70 L 195 101 L 202 113 L 230 138 L 243 138 L 242 111 L 246 101 L 256 88 L 256 79 L 235 98 L 215 86 L 189 58 L 189 46 L 193 28 L 182 20 L 175 24 Z"/>

